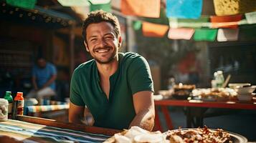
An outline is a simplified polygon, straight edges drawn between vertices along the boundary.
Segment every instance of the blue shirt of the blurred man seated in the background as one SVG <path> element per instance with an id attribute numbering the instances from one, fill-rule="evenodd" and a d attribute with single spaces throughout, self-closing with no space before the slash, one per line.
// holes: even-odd
<path id="1" fill-rule="evenodd" d="M 32 70 L 32 76 L 36 77 L 37 87 L 42 88 L 42 86 L 53 76 L 57 74 L 56 67 L 53 64 L 47 62 L 46 66 L 41 69 L 39 66 L 34 66 Z M 55 90 L 55 82 L 49 85 L 49 87 Z"/>

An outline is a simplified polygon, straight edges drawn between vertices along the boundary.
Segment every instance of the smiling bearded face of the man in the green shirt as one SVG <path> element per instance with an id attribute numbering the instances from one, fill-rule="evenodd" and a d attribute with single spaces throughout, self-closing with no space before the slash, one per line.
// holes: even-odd
<path id="1" fill-rule="evenodd" d="M 113 61 L 121 44 L 121 38 L 115 35 L 112 24 L 105 21 L 87 26 L 86 40 L 86 50 L 100 64 Z"/>

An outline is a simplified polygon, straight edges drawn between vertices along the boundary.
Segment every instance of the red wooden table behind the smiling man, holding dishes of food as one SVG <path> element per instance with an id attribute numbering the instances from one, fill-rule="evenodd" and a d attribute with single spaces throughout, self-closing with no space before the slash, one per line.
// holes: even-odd
<path id="1" fill-rule="evenodd" d="M 166 124 L 169 129 L 174 129 L 171 115 L 168 111 L 168 106 L 187 107 L 186 111 L 186 126 L 191 127 L 191 108 L 224 108 L 224 109 L 256 109 L 256 100 L 253 99 L 251 102 L 239 102 L 237 100 L 229 100 L 227 102 L 203 102 L 202 100 L 179 100 L 179 99 L 163 99 L 155 101 L 156 107 L 161 107 L 161 112 L 166 119 Z M 199 121 L 202 124 L 202 121 Z M 158 110 L 156 109 L 155 117 L 155 130 L 163 132 L 161 123 L 158 116 Z"/>

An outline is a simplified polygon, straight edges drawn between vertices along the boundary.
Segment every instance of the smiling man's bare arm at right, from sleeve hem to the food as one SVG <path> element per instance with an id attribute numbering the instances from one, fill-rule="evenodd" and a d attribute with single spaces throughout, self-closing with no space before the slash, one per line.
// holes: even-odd
<path id="1" fill-rule="evenodd" d="M 133 94 L 133 105 L 136 111 L 136 117 L 134 117 L 129 128 L 138 126 L 151 131 L 155 119 L 153 92 L 143 91 Z"/>

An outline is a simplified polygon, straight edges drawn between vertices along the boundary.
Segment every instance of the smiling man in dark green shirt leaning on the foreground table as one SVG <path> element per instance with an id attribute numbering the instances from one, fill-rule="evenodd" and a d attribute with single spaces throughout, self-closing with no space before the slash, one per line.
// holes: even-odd
<path id="1" fill-rule="evenodd" d="M 80 64 L 72 75 L 70 122 L 82 124 L 86 106 L 94 126 L 151 130 L 155 116 L 151 72 L 142 56 L 118 53 L 122 42 L 118 19 L 93 11 L 83 23 L 82 34 L 93 60 Z"/>

